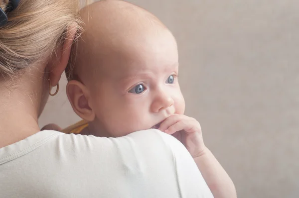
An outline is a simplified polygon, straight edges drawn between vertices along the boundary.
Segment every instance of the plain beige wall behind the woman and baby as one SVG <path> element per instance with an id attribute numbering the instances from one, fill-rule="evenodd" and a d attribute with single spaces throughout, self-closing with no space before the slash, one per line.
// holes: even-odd
<path id="1" fill-rule="evenodd" d="M 175 35 L 186 114 L 202 124 L 238 197 L 299 198 L 299 1 L 131 2 Z M 61 89 L 40 125 L 76 120 Z"/>

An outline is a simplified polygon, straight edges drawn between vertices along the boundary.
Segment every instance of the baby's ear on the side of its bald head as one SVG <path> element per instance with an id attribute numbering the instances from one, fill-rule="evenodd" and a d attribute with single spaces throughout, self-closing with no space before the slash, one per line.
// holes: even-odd
<path id="1" fill-rule="evenodd" d="M 85 85 L 72 80 L 66 86 L 66 94 L 77 115 L 88 122 L 95 119 L 95 112 L 89 105 L 90 101 L 88 101 L 90 94 Z"/>

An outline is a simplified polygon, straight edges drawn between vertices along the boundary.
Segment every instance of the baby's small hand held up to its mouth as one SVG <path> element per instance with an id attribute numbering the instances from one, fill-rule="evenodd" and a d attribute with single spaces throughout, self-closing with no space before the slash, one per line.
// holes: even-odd
<path id="1" fill-rule="evenodd" d="M 200 124 L 192 117 L 173 114 L 166 118 L 158 129 L 177 138 L 193 158 L 201 156 L 206 149 Z"/>

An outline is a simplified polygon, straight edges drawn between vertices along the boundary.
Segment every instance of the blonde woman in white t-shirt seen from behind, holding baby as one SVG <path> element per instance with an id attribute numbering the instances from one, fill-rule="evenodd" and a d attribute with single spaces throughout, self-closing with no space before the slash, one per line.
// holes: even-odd
<path id="1" fill-rule="evenodd" d="M 0 0 L 0 197 L 208 197 L 193 159 L 170 136 L 40 131 L 38 116 L 78 37 L 77 4 Z"/>

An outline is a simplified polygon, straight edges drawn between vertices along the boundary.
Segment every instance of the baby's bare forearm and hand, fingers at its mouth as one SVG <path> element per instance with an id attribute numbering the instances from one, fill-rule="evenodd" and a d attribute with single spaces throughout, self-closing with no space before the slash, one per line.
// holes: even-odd
<path id="1" fill-rule="evenodd" d="M 159 130 L 173 135 L 185 145 L 215 198 L 237 198 L 232 180 L 205 147 L 196 119 L 174 114 L 161 123 Z"/>

